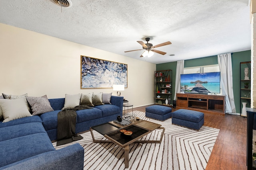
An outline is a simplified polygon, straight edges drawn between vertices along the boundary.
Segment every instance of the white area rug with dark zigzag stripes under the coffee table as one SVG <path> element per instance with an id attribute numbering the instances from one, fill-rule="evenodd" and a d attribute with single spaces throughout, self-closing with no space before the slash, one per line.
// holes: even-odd
<path id="1" fill-rule="evenodd" d="M 157 121 L 133 111 L 137 117 L 161 124 L 165 128 L 162 143 L 134 143 L 130 145 L 129 168 L 124 168 L 124 150 L 113 143 L 93 143 L 90 131 L 84 139 L 56 149 L 80 143 L 84 148 L 84 170 L 204 170 L 209 160 L 219 129 L 203 126 L 200 131 L 172 125 L 172 119 Z M 158 140 L 162 130 L 155 130 L 141 140 Z M 105 138 L 94 131 L 98 140 Z"/>

